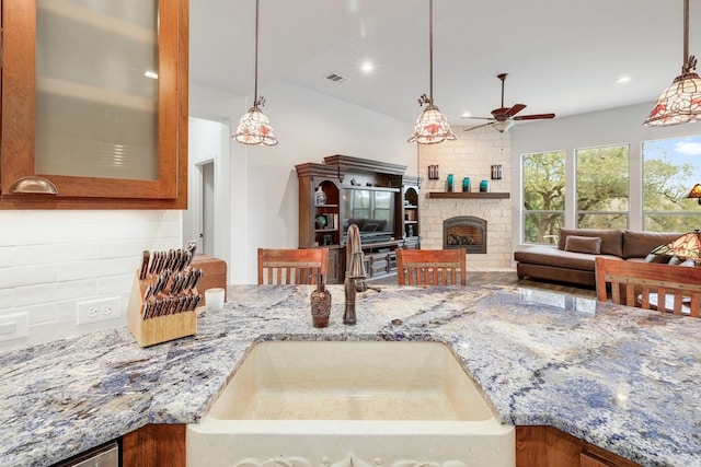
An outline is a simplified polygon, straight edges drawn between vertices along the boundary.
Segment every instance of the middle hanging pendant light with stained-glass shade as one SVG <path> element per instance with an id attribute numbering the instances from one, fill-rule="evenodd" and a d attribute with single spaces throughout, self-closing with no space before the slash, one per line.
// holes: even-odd
<path id="1" fill-rule="evenodd" d="M 428 0 L 428 95 L 418 97 L 418 105 L 427 104 L 414 127 L 409 142 L 435 144 L 443 141 L 455 141 L 448 119 L 434 105 L 434 0 Z"/>

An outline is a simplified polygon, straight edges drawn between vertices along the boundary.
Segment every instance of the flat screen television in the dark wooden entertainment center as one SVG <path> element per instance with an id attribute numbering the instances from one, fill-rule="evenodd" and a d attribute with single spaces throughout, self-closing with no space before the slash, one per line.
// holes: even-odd
<path id="1" fill-rule="evenodd" d="M 394 235 L 397 191 L 348 188 L 342 199 L 343 243 L 348 226 L 356 224 L 363 243 L 387 242 Z"/>

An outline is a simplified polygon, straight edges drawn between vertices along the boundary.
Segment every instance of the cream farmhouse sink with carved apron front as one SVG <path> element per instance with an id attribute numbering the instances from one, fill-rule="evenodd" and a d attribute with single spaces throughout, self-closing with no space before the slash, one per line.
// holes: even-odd
<path id="1" fill-rule="evenodd" d="M 256 345 L 198 424 L 188 466 L 514 466 L 502 425 L 437 342 Z"/>

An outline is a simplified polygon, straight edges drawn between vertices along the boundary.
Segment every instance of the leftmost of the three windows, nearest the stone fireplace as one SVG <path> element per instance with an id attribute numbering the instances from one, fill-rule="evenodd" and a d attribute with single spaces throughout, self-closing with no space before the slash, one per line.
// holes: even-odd
<path id="1" fill-rule="evenodd" d="M 564 226 L 565 152 L 521 155 L 524 242 L 556 244 Z"/>

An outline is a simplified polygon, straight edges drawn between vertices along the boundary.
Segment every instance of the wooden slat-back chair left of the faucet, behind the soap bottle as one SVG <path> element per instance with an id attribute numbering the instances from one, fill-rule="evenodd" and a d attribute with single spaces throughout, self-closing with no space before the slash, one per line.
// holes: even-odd
<path id="1" fill-rule="evenodd" d="M 310 284 L 326 276 L 327 248 L 258 248 L 258 284 Z"/>

